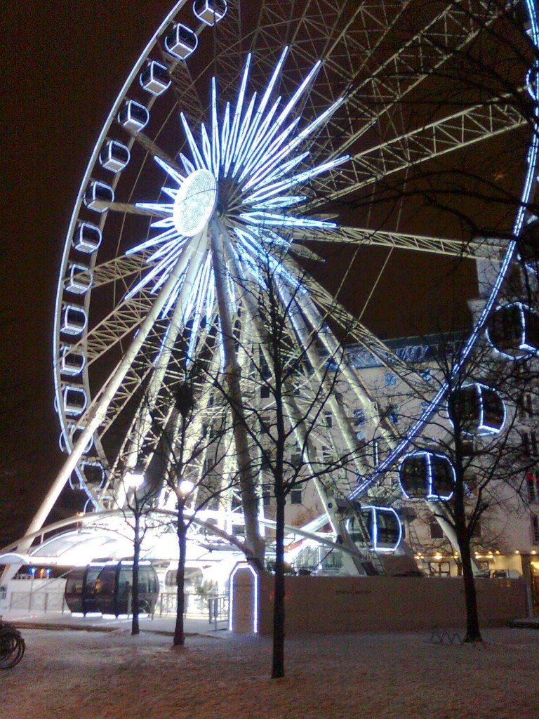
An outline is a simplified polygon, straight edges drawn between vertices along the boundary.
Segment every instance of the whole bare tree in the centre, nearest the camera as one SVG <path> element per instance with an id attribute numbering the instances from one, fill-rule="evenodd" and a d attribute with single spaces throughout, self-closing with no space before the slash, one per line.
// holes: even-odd
<path id="1" fill-rule="evenodd" d="M 275 592 L 273 601 L 272 678 L 285 674 L 285 505 L 292 491 L 315 482 L 323 510 L 336 536 L 350 551 L 351 544 L 335 510 L 331 495 L 338 491 L 333 473 L 346 475 L 356 452 L 338 446 L 323 452 L 321 438 L 331 438 L 324 411 L 336 407 L 336 384 L 344 362 L 344 347 L 334 342 L 331 352 L 321 342 L 328 329 L 328 315 L 305 322 L 308 299 L 303 273 L 287 270 L 287 247 L 272 254 L 261 250 L 259 260 L 241 267 L 229 255 L 229 268 L 241 304 L 244 328 L 231 339 L 239 347 L 244 380 L 252 391 L 241 407 L 241 421 L 250 441 L 250 462 L 262 475 L 262 495 L 275 500 Z M 328 313 L 329 314 L 329 313 Z M 308 329 L 308 325 L 310 329 Z M 217 375 L 215 385 L 234 411 L 234 395 L 226 380 Z M 339 408 L 338 411 L 341 411 Z M 327 449 L 327 448 L 326 448 Z"/>

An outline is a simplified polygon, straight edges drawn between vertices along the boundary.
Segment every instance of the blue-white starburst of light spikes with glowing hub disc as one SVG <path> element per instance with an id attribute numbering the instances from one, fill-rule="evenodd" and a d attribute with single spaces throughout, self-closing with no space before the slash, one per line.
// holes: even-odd
<path id="1" fill-rule="evenodd" d="M 270 82 L 262 96 L 254 92 L 246 99 L 252 55 L 247 56 L 241 75 L 241 86 L 235 106 L 226 103 L 222 118 L 217 109 L 217 83 L 211 81 L 211 124 L 201 124 L 200 146 L 197 145 L 183 113 L 180 119 L 190 150 L 190 158 L 180 153 L 185 176 L 167 162 L 155 157 L 175 187 L 164 186 L 162 192 L 172 202 L 137 203 L 137 207 L 154 211 L 160 219 L 153 221 L 158 234 L 129 249 L 128 255 L 151 249 L 147 262 L 152 265 L 143 278 L 128 293 L 134 296 L 149 286 L 153 293 L 165 284 L 172 268 L 189 242 L 200 233 L 216 212 L 235 239 L 234 252 L 244 262 L 247 271 L 256 275 L 257 257 L 267 258 L 268 248 L 283 248 L 290 244 L 294 228 L 315 230 L 335 229 L 336 224 L 321 219 L 294 214 L 292 208 L 306 199 L 293 194 L 298 186 L 326 173 L 349 159 L 336 157 L 321 165 L 296 171 L 309 156 L 305 145 L 316 129 L 328 121 L 343 101 L 338 99 L 310 124 L 300 129 L 301 118 L 295 113 L 298 103 L 313 82 L 320 61 L 288 101 L 279 96 L 272 99 L 288 48 L 282 51 Z M 285 231 L 286 236 L 281 234 Z M 278 259 L 275 270 L 286 274 Z M 163 316 L 175 306 L 188 270 L 180 276 L 163 308 Z M 182 321 L 191 321 L 191 335 L 195 336 L 201 321 L 214 316 L 215 288 L 211 252 L 208 252 L 193 280 L 193 291 L 183 298 Z M 234 296 L 234 292 L 231 292 Z"/>

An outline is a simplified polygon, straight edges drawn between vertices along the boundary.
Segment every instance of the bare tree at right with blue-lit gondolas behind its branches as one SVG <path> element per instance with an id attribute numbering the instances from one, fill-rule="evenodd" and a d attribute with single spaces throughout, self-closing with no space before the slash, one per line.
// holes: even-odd
<path id="1" fill-rule="evenodd" d="M 465 641 L 481 641 L 472 543 L 482 521 L 499 524 L 527 502 L 525 477 L 537 463 L 523 441 L 520 408 L 539 398 L 538 370 L 530 355 L 517 362 L 481 342 L 464 354 L 461 333 L 423 340 L 425 354 L 415 371 L 428 371 L 438 408 L 423 429 L 414 429 L 420 395 L 410 384 L 387 395 L 384 413 L 400 431 L 398 468 L 407 498 L 423 499 L 438 521 L 461 565 L 466 600 Z M 397 443 L 398 446 L 398 443 Z M 396 477 L 390 471 L 394 481 Z M 382 480 L 381 480 L 382 481 Z M 397 492 L 395 493 L 397 495 Z M 498 520 L 498 522 L 496 521 Z"/>

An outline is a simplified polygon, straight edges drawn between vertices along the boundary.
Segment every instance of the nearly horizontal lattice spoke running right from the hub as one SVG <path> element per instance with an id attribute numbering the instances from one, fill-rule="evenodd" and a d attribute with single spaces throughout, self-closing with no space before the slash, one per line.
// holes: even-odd
<path id="1" fill-rule="evenodd" d="M 295 239 L 299 242 L 331 242 L 332 244 L 353 244 L 365 247 L 392 247 L 393 249 L 410 249 L 413 252 L 428 252 L 432 255 L 446 255 L 449 257 L 463 257 L 471 260 L 492 258 L 493 252 L 500 254 L 505 251 L 507 241 L 499 239 L 498 242 L 489 239 L 471 239 L 461 242 L 456 239 L 442 237 L 424 237 L 419 234 L 405 232 L 387 232 L 378 229 L 362 229 L 359 227 L 338 227 L 337 229 L 313 234 L 294 230 Z M 292 244 L 291 249 L 293 249 Z"/>

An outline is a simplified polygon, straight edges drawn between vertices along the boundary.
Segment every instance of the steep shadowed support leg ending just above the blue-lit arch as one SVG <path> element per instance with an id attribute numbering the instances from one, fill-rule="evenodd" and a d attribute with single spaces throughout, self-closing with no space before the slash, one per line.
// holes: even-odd
<path id="1" fill-rule="evenodd" d="M 226 288 L 225 260 L 223 252 L 226 229 L 218 224 L 216 219 L 211 224 L 211 252 L 213 271 L 215 276 L 217 305 L 221 321 L 221 337 L 223 340 L 225 359 L 225 381 L 231 399 L 234 416 L 234 439 L 238 459 L 239 483 L 241 487 L 241 501 L 244 510 L 245 540 L 252 551 L 252 557 L 261 566 L 264 563 L 264 540 L 260 535 L 258 522 L 258 499 L 256 481 L 253 476 L 252 462 L 247 441 L 246 418 L 244 401 L 241 394 L 240 375 L 241 367 L 236 357 L 234 334 L 229 314 L 230 298 Z"/>

